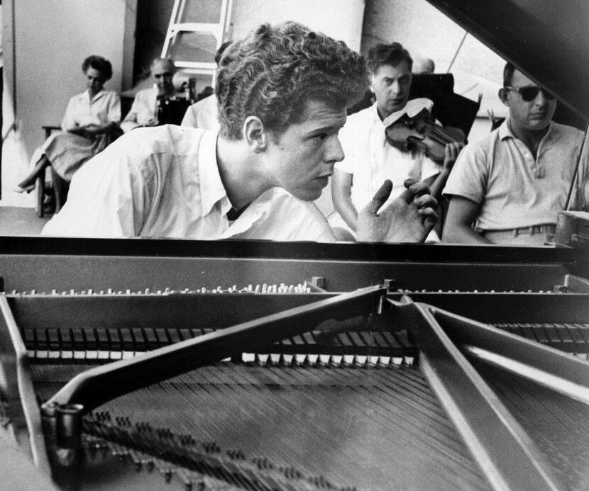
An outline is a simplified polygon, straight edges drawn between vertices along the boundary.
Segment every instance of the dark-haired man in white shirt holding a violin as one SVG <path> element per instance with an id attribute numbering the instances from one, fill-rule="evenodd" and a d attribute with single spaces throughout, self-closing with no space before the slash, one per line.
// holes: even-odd
<path id="1" fill-rule="evenodd" d="M 349 237 L 349 232 L 356 233 L 358 210 L 370 201 L 385 179 L 393 184 L 391 198 L 402 193 L 406 179 L 425 180 L 431 186 L 431 195 L 440 196 L 462 147 L 461 143 L 447 140 L 452 143 L 441 145 L 442 158 L 435 162 L 425 147 L 407 145 L 407 137 L 402 145 L 393 144 L 389 125 L 407 116 L 429 115 L 433 106 L 426 98 L 409 101 L 412 64 L 409 52 L 400 43 L 378 44 L 368 52 L 366 65 L 376 101 L 348 116 L 339 134 L 345 158 L 336 164 L 331 183 L 338 214 L 329 222 L 342 239 Z M 423 140 L 421 130 L 414 133 L 413 141 Z"/>

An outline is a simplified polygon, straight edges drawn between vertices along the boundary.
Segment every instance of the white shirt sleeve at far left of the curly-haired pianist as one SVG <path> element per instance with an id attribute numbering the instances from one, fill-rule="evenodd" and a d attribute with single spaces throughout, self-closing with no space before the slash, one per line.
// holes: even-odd
<path id="1" fill-rule="evenodd" d="M 117 140 L 73 176 L 67 202 L 42 235 L 136 237 L 150 210 L 148 167 L 136 164 Z"/>

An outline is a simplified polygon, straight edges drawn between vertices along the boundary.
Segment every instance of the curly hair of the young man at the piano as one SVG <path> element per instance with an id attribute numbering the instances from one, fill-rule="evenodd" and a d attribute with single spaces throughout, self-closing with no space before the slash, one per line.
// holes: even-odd
<path id="1" fill-rule="evenodd" d="M 299 23 L 263 24 L 227 47 L 219 60 L 220 132 L 240 140 L 243 122 L 255 115 L 280 135 L 299 122 L 307 101 L 346 108 L 366 87 L 363 58 L 342 41 Z"/>

